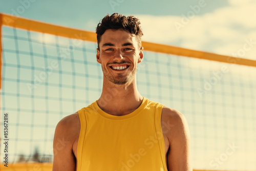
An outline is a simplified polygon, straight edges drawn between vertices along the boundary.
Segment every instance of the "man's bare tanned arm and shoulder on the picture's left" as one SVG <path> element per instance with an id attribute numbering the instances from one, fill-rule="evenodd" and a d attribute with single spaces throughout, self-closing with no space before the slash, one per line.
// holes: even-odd
<path id="1" fill-rule="evenodd" d="M 77 138 L 77 131 L 80 131 L 77 130 L 78 121 L 78 113 L 75 113 L 61 119 L 57 124 L 53 140 L 53 171 L 76 170 L 73 145 Z"/>

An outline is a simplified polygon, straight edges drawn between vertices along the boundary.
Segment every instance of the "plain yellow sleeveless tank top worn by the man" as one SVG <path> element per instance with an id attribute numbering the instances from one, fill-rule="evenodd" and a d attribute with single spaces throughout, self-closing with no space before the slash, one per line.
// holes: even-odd
<path id="1" fill-rule="evenodd" d="M 78 171 L 167 171 L 161 129 L 163 105 L 143 97 L 134 112 L 115 116 L 97 100 L 78 111 Z"/>

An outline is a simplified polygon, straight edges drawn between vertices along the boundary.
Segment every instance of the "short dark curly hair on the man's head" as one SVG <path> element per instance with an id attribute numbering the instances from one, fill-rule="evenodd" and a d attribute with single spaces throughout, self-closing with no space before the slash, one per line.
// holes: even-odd
<path id="1" fill-rule="evenodd" d="M 109 14 L 106 15 L 96 28 L 98 48 L 101 35 L 104 34 L 104 32 L 108 29 L 123 29 L 130 32 L 131 34 L 135 34 L 138 44 L 141 46 L 141 36 L 143 33 L 139 25 L 139 19 L 132 15 L 127 17 L 118 13 L 114 13 L 111 16 Z"/>

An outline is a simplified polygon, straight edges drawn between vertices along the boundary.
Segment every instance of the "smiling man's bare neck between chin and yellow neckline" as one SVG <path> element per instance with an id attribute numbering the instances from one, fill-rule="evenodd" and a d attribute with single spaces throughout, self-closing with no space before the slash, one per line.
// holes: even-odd
<path id="1" fill-rule="evenodd" d="M 117 85 L 103 79 L 102 93 L 97 100 L 100 109 L 111 115 L 122 116 L 139 108 L 143 97 L 138 92 L 135 80 Z"/>

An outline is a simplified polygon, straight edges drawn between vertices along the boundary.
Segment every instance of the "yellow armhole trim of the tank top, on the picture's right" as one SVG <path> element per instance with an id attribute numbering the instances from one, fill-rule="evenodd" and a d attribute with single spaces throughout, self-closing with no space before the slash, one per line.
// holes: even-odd
<path id="1" fill-rule="evenodd" d="M 168 169 L 165 163 L 165 144 L 164 144 L 162 127 L 161 127 L 161 115 L 162 115 L 163 106 L 164 105 L 161 103 L 158 103 L 156 106 L 155 126 L 156 126 L 156 134 L 157 134 L 158 144 L 159 144 L 160 153 L 161 153 L 162 164 L 164 167 L 164 171 L 167 171 Z"/>

